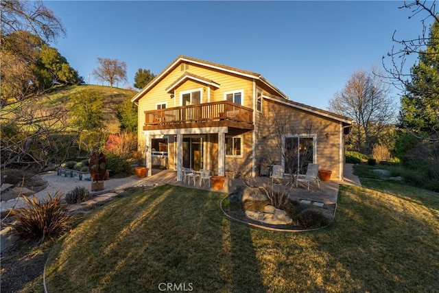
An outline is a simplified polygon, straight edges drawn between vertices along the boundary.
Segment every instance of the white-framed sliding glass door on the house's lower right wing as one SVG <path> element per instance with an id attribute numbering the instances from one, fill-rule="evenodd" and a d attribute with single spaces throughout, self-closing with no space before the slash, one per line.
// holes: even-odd
<path id="1" fill-rule="evenodd" d="M 288 174 L 305 174 L 309 163 L 316 163 L 316 135 L 283 137 L 283 167 Z"/>

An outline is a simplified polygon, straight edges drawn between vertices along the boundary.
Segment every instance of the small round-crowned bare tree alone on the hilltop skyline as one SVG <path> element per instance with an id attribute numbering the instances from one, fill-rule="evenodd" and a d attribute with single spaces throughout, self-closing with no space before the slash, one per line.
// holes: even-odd
<path id="1" fill-rule="evenodd" d="M 108 82 L 111 87 L 115 83 L 126 82 L 126 62 L 101 57 L 97 58 L 97 62 L 100 66 L 93 69 L 93 75 L 97 80 Z"/>

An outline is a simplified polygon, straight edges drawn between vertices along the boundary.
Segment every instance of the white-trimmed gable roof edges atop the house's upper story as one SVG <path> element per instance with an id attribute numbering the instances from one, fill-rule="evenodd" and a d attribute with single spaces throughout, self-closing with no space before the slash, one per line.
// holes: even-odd
<path id="1" fill-rule="evenodd" d="M 224 71 L 224 72 L 233 73 L 236 75 L 241 75 L 241 76 L 244 76 L 246 78 L 253 78 L 255 80 L 260 80 L 263 84 L 265 84 L 266 86 L 270 87 L 273 91 L 275 91 L 279 95 L 279 97 L 283 97 L 284 99 L 288 99 L 288 97 L 287 97 L 287 95 L 285 95 L 285 93 L 283 93 L 282 91 L 277 89 L 276 86 L 272 85 L 270 82 L 268 82 L 268 80 L 265 80 L 265 78 L 263 78 L 263 76 L 259 73 L 254 73 L 251 71 L 237 69 L 235 67 L 228 67 L 228 66 L 220 65 L 217 63 L 213 63 L 213 62 L 204 61 L 204 60 L 190 58 L 187 56 L 180 55 L 176 58 L 176 60 L 171 62 L 170 65 L 168 65 L 165 69 L 163 69 L 163 71 L 161 71 L 161 73 L 158 73 L 158 75 L 156 75 L 155 78 L 153 78 L 143 89 L 141 89 L 141 91 L 139 91 L 139 93 L 137 93 L 137 95 L 134 95 L 134 97 L 131 99 L 131 102 L 138 102 L 139 99 L 141 99 L 141 97 L 143 97 L 143 95 L 145 95 L 145 93 L 150 91 L 150 89 L 152 89 L 160 80 L 162 80 L 170 71 L 172 71 L 176 67 L 178 67 L 182 62 L 192 63 L 195 65 L 201 65 L 201 66 L 208 67 L 211 69 L 217 69 L 219 71 Z M 183 80 L 185 80 L 185 78 L 194 79 L 195 77 L 197 77 L 197 75 L 189 73 L 189 74 L 187 74 L 186 77 L 185 77 L 185 75 L 183 75 L 176 82 L 178 82 L 179 80 L 180 80 L 180 82 L 182 82 Z M 182 80 L 182 78 L 183 78 L 183 80 Z M 199 78 L 200 77 L 198 77 L 198 79 Z M 201 78 L 198 81 L 206 82 L 207 80 L 205 78 Z M 213 81 L 210 80 L 209 82 L 213 82 Z M 213 82 L 213 83 L 216 84 L 215 82 Z M 174 85 L 174 84 L 171 84 L 171 85 Z M 219 84 L 218 84 L 218 86 L 219 86 Z M 169 87 L 167 88 L 167 91 L 169 91 Z"/>

